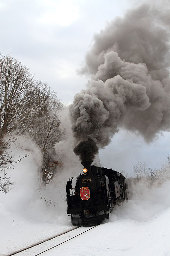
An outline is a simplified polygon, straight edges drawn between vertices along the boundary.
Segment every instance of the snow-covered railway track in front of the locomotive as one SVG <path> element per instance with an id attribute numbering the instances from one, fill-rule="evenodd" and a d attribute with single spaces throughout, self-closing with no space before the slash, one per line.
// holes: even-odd
<path id="1" fill-rule="evenodd" d="M 96 225 L 97 226 L 97 225 Z M 61 245 L 73 238 L 75 238 L 76 236 L 79 236 L 85 232 L 87 232 L 88 230 L 96 227 L 96 226 L 92 226 L 92 227 L 73 227 L 72 229 L 64 232 L 64 233 L 60 233 L 57 236 L 53 236 L 50 237 L 48 239 L 45 239 L 39 243 L 30 245 L 28 247 L 22 248 L 20 250 L 11 252 L 10 254 L 6 254 L 5 256 L 37 256 L 37 255 L 43 255 L 44 252 L 49 251 L 52 248 L 57 247 L 58 245 Z"/>

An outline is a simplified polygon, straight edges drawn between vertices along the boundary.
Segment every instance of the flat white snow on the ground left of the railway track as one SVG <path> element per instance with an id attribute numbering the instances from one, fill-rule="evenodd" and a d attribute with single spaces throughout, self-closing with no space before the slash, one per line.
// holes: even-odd
<path id="1" fill-rule="evenodd" d="M 0 205 L 0 208 L 1 256 L 70 229 L 69 225 L 35 221 L 24 218 L 19 214 L 5 211 L 2 205 Z"/>

